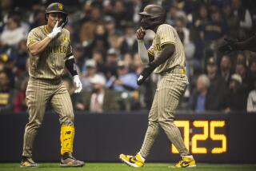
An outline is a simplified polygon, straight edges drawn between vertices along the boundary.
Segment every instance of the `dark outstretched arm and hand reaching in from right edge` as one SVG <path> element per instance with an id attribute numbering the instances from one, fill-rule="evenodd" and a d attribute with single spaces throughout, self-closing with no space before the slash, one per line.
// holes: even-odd
<path id="1" fill-rule="evenodd" d="M 253 37 L 248 38 L 245 41 L 234 41 L 228 38 L 224 38 L 226 43 L 222 46 L 219 46 L 218 51 L 223 54 L 229 54 L 234 50 L 250 50 L 252 52 L 256 52 L 256 34 Z"/>

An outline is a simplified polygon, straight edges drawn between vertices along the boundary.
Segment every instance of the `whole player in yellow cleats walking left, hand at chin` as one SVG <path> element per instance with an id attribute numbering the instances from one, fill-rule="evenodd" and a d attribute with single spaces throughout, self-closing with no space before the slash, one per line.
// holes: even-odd
<path id="1" fill-rule="evenodd" d="M 127 165 L 142 167 L 159 129 L 162 128 L 182 157 L 174 167 L 194 167 L 194 158 L 186 149 L 178 127 L 174 125 L 174 110 L 188 85 L 182 42 L 176 30 L 165 24 L 166 12 L 162 6 L 148 5 L 139 14 L 142 17 L 142 27 L 137 30 L 138 53 L 145 68 L 137 83 L 141 85 L 153 71 L 154 74 L 160 74 L 161 78 L 150 109 L 149 125 L 142 148 L 135 156 L 120 154 L 119 157 Z M 145 30 L 153 30 L 155 33 L 149 50 L 146 50 L 143 42 Z"/>

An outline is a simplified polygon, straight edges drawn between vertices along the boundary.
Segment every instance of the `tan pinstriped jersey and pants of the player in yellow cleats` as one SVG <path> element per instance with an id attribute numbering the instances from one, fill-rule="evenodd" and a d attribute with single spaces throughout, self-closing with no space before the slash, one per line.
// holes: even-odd
<path id="1" fill-rule="evenodd" d="M 176 30 L 170 25 L 162 24 L 158 26 L 154 41 L 148 52 L 154 58 L 158 58 L 162 52 L 162 47 L 166 44 L 173 44 L 175 51 L 171 58 L 168 58 L 166 62 L 154 70 L 155 74 L 161 74 L 161 78 L 150 109 L 146 136 L 142 149 L 140 149 L 142 157 L 147 157 L 150 153 L 160 127 L 181 155 L 189 154 L 178 127 L 174 125 L 174 110 L 177 108 L 178 102 L 188 85 L 185 74 L 185 54 Z"/>

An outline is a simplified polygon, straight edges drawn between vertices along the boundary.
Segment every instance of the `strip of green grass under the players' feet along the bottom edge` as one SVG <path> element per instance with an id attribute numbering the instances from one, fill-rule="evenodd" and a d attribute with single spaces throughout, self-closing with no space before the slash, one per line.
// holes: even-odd
<path id="1" fill-rule="evenodd" d="M 58 163 L 40 163 L 40 167 L 32 170 L 38 171 L 55 171 L 63 170 L 58 166 Z M 196 168 L 190 169 L 171 169 L 168 168 L 170 164 L 166 163 L 147 163 L 144 167 L 139 168 L 140 171 L 162 171 L 162 170 L 206 170 L 206 171 L 255 171 L 256 165 L 220 165 L 220 164 L 198 164 Z M 0 163 L 0 171 L 11 171 L 11 170 L 24 170 L 19 168 L 18 163 Z M 65 171 L 78 170 L 78 171 L 130 171 L 135 170 L 122 163 L 86 163 L 82 168 L 66 168 Z M 137 169 L 136 169 L 137 170 Z"/>

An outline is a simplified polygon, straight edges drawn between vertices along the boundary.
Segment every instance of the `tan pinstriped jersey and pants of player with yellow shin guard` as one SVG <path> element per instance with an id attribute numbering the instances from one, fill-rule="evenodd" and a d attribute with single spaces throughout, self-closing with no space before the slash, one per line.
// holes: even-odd
<path id="1" fill-rule="evenodd" d="M 46 30 L 46 26 L 34 28 L 28 36 L 27 47 L 29 48 L 35 42 L 42 41 L 47 34 L 49 32 Z M 30 80 L 26 89 L 26 102 L 30 117 L 24 133 L 22 156 L 32 156 L 34 137 L 42 124 L 48 101 L 60 116 L 61 125 L 74 125 L 74 112 L 70 94 L 62 82 L 65 60 L 70 54 L 70 33 L 68 30 L 62 29 L 62 32 L 46 46 L 42 53 L 37 56 L 30 55 Z"/>

